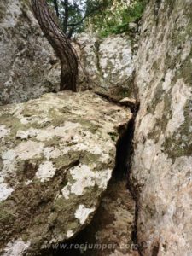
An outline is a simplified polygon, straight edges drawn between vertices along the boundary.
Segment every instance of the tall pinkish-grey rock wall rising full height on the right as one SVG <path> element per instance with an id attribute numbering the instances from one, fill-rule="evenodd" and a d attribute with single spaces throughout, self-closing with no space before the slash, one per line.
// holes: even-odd
<path id="1" fill-rule="evenodd" d="M 150 1 L 136 61 L 132 172 L 143 255 L 192 255 L 191 38 L 190 0 Z"/>

